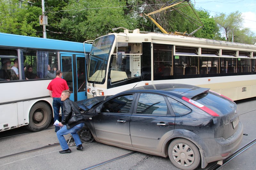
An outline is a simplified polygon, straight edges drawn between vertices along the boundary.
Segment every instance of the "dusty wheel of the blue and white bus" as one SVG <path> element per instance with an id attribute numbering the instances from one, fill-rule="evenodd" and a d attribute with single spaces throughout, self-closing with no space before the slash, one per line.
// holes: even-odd
<path id="1" fill-rule="evenodd" d="M 26 127 L 37 132 L 47 128 L 51 120 L 51 108 L 44 102 L 38 102 L 29 111 L 29 124 Z"/>

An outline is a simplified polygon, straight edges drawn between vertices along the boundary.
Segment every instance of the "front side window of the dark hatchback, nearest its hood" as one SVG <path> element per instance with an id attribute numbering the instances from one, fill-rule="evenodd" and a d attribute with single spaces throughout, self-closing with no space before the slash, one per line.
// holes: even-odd
<path id="1" fill-rule="evenodd" d="M 133 95 L 119 96 L 104 103 L 101 112 L 107 113 L 130 113 Z"/>

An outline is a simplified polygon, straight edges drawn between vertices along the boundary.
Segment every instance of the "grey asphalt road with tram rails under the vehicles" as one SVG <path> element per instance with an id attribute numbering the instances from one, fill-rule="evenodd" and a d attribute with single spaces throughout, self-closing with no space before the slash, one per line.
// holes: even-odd
<path id="1" fill-rule="evenodd" d="M 256 98 L 239 101 L 237 105 L 240 121 L 244 125 L 244 134 L 247 134 L 240 145 L 243 147 L 256 138 Z M 0 132 L 0 137 L 22 130 L 24 129 Z M 66 136 L 66 139 L 68 137 Z M 70 146 L 72 153 L 60 154 L 61 148 L 57 143 L 59 142 L 54 129 L 0 138 L 0 169 L 177 169 L 169 158 L 133 152 L 95 141 L 83 144 L 84 151 L 82 152 L 77 151 L 75 146 Z M 45 148 L 42 148 L 44 146 Z M 219 169 L 255 169 L 255 157 L 256 144 Z M 205 169 L 209 169 L 214 164 L 216 162 L 209 164 Z"/>

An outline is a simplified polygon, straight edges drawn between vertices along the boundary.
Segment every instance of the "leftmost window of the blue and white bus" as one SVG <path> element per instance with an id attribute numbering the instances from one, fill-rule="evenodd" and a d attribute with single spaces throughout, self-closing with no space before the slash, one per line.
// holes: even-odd
<path id="1" fill-rule="evenodd" d="M 0 49 L 0 81 L 18 80 L 18 55 L 14 49 Z"/>

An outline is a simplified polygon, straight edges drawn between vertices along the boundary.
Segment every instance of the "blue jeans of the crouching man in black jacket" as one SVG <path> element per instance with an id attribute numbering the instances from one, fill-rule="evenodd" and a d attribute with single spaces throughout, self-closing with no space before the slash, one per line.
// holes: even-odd
<path id="1" fill-rule="evenodd" d="M 80 123 L 80 124 L 74 126 L 73 128 L 70 128 L 70 129 L 67 129 L 66 125 L 62 126 L 62 128 L 57 132 L 57 137 L 58 137 L 58 140 L 60 142 L 60 146 L 61 146 L 62 150 L 69 149 L 67 141 L 66 141 L 65 137 L 63 136 L 63 135 L 67 135 L 69 133 L 74 138 L 75 143 L 76 143 L 76 147 L 79 144 L 82 144 L 82 142 L 79 138 L 79 135 L 77 134 L 77 131 L 80 130 L 83 126 L 84 126 L 84 123 Z"/>

